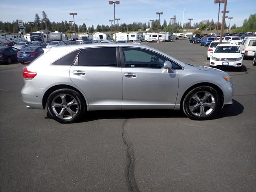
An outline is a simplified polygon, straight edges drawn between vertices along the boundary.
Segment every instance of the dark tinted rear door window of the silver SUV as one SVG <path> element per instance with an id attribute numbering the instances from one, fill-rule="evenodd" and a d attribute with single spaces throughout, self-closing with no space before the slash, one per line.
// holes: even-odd
<path id="1" fill-rule="evenodd" d="M 82 49 L 78 56 L 78 64 L 83 66 L 116 67 L 116 48 L 102 47 Z"/>

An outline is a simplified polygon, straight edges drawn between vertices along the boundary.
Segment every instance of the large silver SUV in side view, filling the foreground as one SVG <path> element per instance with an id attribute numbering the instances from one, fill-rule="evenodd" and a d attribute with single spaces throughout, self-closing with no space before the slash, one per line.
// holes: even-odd
<path id="1" fill-rule="evenodd" d="M 27 108 L 47 108 L 62 123 L 85 111 L 129 109 L 183 109 L 205 120 L 232 104 L 233 95 L 226 72 L 133 44 L 50 48 L 24 68 L 23 78 Z"/>

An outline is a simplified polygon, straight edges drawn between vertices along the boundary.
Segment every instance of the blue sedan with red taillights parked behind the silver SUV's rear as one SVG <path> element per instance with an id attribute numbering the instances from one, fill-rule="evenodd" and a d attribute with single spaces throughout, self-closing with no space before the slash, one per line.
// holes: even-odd
<path id="1" fill-rule="evenodd" d="M 44 53 L 44 50 L 40 46 L 29 46 L 22 48 L 19 52 L 17 52 L 17 59 L 20 63 L 24 64 L 27 61 L 33 61 L 38 56 Z"/>

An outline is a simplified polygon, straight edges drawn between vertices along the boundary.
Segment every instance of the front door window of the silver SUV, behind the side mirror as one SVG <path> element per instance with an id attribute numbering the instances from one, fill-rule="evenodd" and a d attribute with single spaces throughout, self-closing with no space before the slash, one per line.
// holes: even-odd
<path id="1" fill-rule="evenodd" d="M 164 62 L 168 61 L 168 58 L 145 49 L 122 48 L 122 50 L 124 53 L 124 64 L 126 67 L 162 68 L 164 66 Z M 172 63 L 173 69 L 181 68 L 173 61 L 169 61 Z"/>

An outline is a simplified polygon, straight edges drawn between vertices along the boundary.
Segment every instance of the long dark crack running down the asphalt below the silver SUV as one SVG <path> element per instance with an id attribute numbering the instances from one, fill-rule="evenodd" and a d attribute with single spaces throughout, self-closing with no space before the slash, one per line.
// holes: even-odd
<path id="1" fill-rule="evenodd" d="M 125 136 L 126 131 L 124 129 L 124 126 L 127 122 L 127 119 L 124 120 L 122 124 L 122 139 L 124 141 L 124 144 L 127 146 L 126 154 L 128 158 L 128 165 L 126 168 L 126 174 L 127 174 L 127 182 L 130 188 L 130 191 L 132 192 L 139 192 L 135 176 L 134 176 L 134 164 L 135 164 L 135 158 L 134 158 L 134 152 L 132 148 L 132 143 L 128 141 L 127 137 Z"/>

